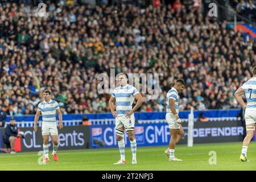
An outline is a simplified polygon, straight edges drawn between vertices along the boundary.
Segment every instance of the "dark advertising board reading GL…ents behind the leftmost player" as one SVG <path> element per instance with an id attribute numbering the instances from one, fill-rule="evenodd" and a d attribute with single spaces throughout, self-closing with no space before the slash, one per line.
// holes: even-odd
<path id="1" fill-rule="evenodd" d="M 24 132 L 23 138 L 16 138 L 15 151 L 40 151 L 43 148 L 43 137 L 41 127 L 35 132 L 32 127 L 23 127 L 19 129 Z M 3 143 L 3 135 L 5 129 L 1 129 L 0 147 L 5 148 Z M 49 137 L 49 147 L 52 147 L 51 137 Z M 63 150 L 69 149 L 85 149 L 90 148 L 90 128 L 89 126 L 67 126 L 59 130 L 59 148 Z"/>

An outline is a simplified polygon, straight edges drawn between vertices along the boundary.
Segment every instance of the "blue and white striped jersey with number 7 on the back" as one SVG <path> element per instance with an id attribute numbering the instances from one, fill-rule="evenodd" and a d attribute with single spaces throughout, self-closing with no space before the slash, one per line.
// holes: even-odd
<path id="1" fill-rule="evenodd" d="M 246 109 L 250 108 L 256 110 L 256 78 L 250 78 L 250 80 L 246 81 L 241 87 L 245 91 L 247 100 Z"/>

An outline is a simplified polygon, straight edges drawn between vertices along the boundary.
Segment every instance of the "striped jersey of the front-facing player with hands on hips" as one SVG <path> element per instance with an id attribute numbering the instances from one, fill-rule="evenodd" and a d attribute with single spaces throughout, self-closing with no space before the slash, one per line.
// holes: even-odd
<path id="1" fill-rule="evenodd" d="M 114 89 L 112 97 L 115 98 L 117 104 L 117 115 L 121 116 L 125 113 L 131 111 L 134 96 L 139 93 L 139 91 L 132 85 L 125 85 L 123 87 L 118 86 Z"/>

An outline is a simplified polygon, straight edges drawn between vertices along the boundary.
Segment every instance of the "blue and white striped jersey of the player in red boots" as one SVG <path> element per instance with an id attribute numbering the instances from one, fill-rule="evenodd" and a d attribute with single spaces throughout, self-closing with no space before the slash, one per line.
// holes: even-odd
<path id="1" fill-rule="evenodd" d="M 56 109 L 60 106 L 56 101 L 43 101 L 38 105 L 38 110 L 42 112 L 43 122 L 56 122 Z"/>

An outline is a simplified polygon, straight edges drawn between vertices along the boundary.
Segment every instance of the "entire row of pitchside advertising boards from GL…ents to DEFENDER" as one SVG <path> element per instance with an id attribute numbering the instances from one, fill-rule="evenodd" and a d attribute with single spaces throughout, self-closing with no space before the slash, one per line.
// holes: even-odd
<path id="1" fill-rule="evenodd" d="M 187 144 L 188 123 L 183 123 L 185 136 L 181 144 Z M 16 138 L 15 151 L 40 151 L 43 148 L 41 128 L 35 133 L 32 127 L 19 129 L 24 131 L 25 138 Z M 193 129 L 194 143 L 242 142 L 245 129 L 240 121 L 195 122 Z M 0 147 L 5 148 L 3 135 L 0 130 Z M 168 146 L 170 132 L 167 123 L 135 123 L 135 137 L 138 146 Z M 255 140 L 255 137 L 254 137 Z M 125 134 L 126 146 L 130 146 Z M 51 138 L 49 146 L 52 147 Z M 117 147 L 114 125 L 66 126 L 59 130 L 59 148 L 61 150 L 85 148 Z"/>

